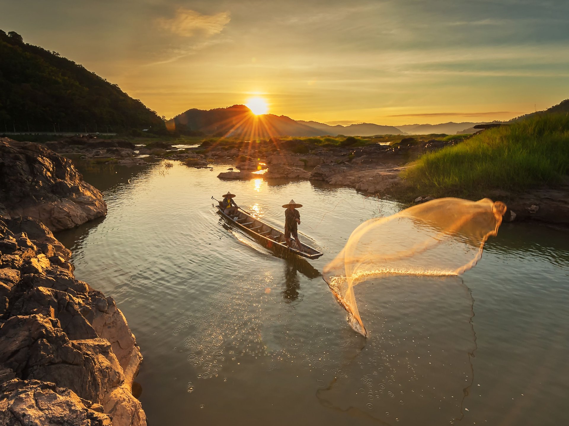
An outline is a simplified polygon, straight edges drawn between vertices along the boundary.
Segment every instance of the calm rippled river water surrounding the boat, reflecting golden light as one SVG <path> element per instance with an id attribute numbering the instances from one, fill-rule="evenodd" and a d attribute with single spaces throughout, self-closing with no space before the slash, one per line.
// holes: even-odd
<path id="1" fill-rule="evenodd" d="M 569 233 L 504 224 L 461 277 L 356 287 L 357 335 L 320 276 L 362 221 L 402 206 L 310 182 L 221 181 L 228 166 L 79 164 L 104 219 L 57 237 L 76 277 L 125 314 L 151 425 L 561 425 L 569 422 Z M 229 228 L 211 196 L 325 254 L 283 260 Z"/>

